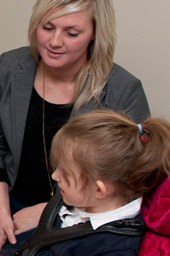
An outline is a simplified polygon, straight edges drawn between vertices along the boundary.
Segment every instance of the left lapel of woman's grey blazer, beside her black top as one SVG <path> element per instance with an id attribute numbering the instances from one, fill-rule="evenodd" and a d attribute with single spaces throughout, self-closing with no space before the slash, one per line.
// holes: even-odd
<path id="1" fill-rule="evenodd" d="M 19 168 L 27 112 L 34 86 L 35 67 L 12 71 L 11 77 L 11 124 L 14 167 Z"/>

